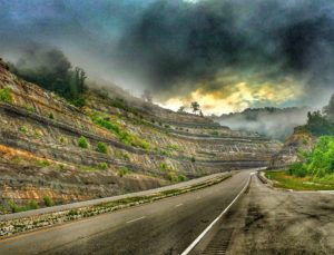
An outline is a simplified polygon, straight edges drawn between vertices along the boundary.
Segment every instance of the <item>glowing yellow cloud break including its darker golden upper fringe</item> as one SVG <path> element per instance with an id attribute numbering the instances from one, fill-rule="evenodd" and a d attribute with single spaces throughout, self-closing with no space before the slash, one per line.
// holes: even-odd
<path id="1" fill-rule="evenodd" d="M 254 77 L 253 77 L 254 78 Z M 219 86 L 219 82 L 229 81 L 229 86 Z M 207 115 L 229 114 L 242 111 L 249 107 L 264 106 L 293 106 L 299 98 L 303 98 L 303 84 L 296 82 L 292 78 L 285 78 L 272 84 L 271 81 L 252 81 L 238 80 L 237 76 L 222 77 L 218 76 L 215 81 L 217 85 L 207 89 L 208 85 L 198 84 L 195 90 L 186 96 L 176 96 L 168 98 L 161 106 L 177 110 L 179 107 L 188 107 L 191 101 L 198 101 L 202 109 Z"/>

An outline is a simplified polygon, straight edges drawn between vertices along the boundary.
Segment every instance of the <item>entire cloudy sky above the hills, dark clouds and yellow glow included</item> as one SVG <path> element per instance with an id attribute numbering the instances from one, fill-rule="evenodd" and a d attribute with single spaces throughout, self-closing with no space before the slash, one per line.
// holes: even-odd
<path id="1" fill-rule="evenodd" d="M 49 49 L 175 110 L 322 107 L 334 92 L 334 1 L 0 0 L 0 57 Z"/>

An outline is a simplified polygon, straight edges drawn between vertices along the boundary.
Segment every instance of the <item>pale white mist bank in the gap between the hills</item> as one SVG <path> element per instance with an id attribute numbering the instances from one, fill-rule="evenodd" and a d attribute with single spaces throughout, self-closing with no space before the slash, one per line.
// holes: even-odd
<path id="1" fill-rule="evenodd" d="M 257 131 L 262 135 L 284 140 L 294 130 L 294 127 L 306 124 L 310 107 L 289 108 L 254 108 L 242 112 L 222 115 L 213 119 L 232 129 Z"/>

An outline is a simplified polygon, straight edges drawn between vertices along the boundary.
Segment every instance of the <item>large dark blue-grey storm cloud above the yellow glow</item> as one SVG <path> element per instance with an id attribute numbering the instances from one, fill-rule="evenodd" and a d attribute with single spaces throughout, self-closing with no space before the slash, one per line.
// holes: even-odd
<path id="1" fill-rule="evenodd" d="M 160 91 L 185 81 L 216 89 L 224 68 L 331 88 L 333 49 L 331 1 L 156 1 L 121 41 L 127 65 Z"/>

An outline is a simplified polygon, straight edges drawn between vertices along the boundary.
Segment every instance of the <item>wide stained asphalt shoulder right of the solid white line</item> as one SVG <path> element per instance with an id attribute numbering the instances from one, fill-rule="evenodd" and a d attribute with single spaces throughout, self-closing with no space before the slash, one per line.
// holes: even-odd
<path id="1" fill-rule="evenodd" d="M 334 193 L 284 192 L 254 175 L 194 254 L 334 254 Z"/>

